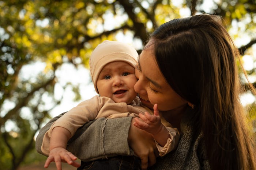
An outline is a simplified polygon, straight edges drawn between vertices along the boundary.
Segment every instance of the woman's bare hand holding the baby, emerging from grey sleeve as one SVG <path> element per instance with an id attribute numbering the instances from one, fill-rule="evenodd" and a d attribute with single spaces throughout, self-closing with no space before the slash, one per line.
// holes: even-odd
<path id="1" fill-rule="evenodd" d="M 156 157 L 159 156 L 155 141 L 150 133 L 135 127 L 132 119 L 129 129 L 128 143 L 134 153 L 140 157 L 142 169 L 147 169 L 156 162 Z"/>

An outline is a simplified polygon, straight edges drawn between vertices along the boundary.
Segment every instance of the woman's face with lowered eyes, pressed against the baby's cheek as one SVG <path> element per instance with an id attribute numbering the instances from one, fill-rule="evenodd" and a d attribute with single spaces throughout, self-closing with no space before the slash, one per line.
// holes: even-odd
<path id="1" fill-rule="evenodd" d="M 161 111 L 175 110 L 187 105 L 188 102 L 166 82 L 155 61 L 153 49 L 151 45 L 142 51 L 135 69 L 135 76 L 139 80 L 134 89 L 139 93 L 143 105 L 153 108 L 153 104 L 157 103 Z"/>

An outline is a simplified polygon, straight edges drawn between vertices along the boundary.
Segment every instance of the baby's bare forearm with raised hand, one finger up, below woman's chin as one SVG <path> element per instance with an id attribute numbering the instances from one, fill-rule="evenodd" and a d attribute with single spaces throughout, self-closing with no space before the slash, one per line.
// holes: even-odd
<path id="1" fill-rule="evenodd" d="M 135 118 L 134 126 L 139 129 L 145 130 L 153 135 L 153 138 L 160 146 L 165 146 L 168 138 L 170 138 L 169 131 L 161 123 L 157 104 L 154 104 L 154 115 L 150 115 L 148 112 L 145 114 L 139 114 L 139 118 Z"/>

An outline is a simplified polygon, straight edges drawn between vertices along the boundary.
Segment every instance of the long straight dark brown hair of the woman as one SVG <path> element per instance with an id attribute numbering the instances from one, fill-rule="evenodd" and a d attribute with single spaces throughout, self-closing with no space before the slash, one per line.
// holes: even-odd
<path id="1" fill-rule="evenodd" d="M 221 18 L 203 14 L 174 19 L 150 40 L 167 82 L 194 104 L 211 169 L 255 170 L 255 148 L 239 100 L 240 55 Z"/>

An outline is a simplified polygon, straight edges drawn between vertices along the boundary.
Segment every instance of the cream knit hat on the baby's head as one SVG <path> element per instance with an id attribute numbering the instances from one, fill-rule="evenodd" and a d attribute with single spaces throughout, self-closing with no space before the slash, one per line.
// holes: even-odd
<path id="1" fill-rule="evenodd" d="M 95 91 L 98 94 L 99 92 L 96 82 L 98 80 L 99 73 L 106 64 L 116 61 L 127 62 L 132 67 L 135 67 L 138 62 L 138 53 L 128 44 L 109 40 L 103 41 L 92 52 L 89 62 L 91 80 L 94 84 Z"/>

